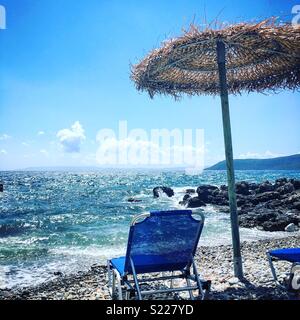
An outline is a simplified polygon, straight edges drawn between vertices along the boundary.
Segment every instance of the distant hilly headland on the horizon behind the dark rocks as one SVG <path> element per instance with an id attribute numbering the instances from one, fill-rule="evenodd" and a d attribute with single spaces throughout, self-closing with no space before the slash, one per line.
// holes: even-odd
<path id="1" fill-rule="evenodd" d="M 300 170 L 300 154 L 271 159 L 235 159 L 235 170 Z M 205 170 L 226 170 L 221 161 Z"/>

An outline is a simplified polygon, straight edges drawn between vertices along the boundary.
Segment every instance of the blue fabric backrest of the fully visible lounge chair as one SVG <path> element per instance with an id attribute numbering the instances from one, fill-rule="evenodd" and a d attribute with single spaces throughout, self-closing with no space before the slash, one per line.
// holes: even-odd
<path id="1" fill-rule="evenodd" d="M 136 273 L 183 270 L 195 254 L 204 217 L 191 210 L 154 211 L 131 226 L 125 272 L 131 274 L 130 257 Z"/>

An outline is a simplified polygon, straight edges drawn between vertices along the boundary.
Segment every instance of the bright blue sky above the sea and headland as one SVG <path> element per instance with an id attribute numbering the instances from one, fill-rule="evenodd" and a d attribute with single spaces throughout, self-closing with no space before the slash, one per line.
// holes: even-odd
<path id="1" fill-rule="evenodd" d="M 200 128 L 205 164 L 224 158 L 219 98 L 149 99 L 129 79 L 136 63 L 191 22 L 269 16 L 299 1 L 0 0 L 0 169 L 96 165 L 102 128 Z M 230 96 L 234 155 L 300 152 L 299 93 Z"/>

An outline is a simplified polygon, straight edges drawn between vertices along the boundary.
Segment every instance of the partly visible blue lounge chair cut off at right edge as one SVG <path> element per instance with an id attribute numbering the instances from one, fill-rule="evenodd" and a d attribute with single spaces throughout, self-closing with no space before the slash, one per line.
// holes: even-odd
<path id="1" fill-rule="evenodd" d="M 295 273 L 300 273 L 300 248 L 276 249 L 267 252 L 271 272 L 275 282 L 282 288 L 283 286 L 277 277 L 276 269 L 273 262 L 275 261 L 288 261 L 292 264 L 291 271 L 289 272 L 288 289 L 300 290 L 300 276 Z"/>

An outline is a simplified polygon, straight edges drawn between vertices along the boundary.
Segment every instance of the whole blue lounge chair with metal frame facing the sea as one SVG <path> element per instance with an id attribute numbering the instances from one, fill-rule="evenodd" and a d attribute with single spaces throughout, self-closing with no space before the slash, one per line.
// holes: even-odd
<path id="1" fill-rule="evenodd" d="M 198 290 L 199 297 L 206 298 L 210 281 L 200 280 L 194 261 L 204 224 L 204 216 L 199 217 L 200 220 L 195 219 L 191 210 L 153 211 L 135 217 L 126 256 L 108 260 L 111 296 L 120 300 L 135 296 L 142 300 L 143 296 L 155 293 L 188 291 L 194 299 L 193 291 Z M 138 275 L 147 273 L 164 274 L 138 279 Z M 173 287 L 176 278 L 185 279 L 186 286 Z M 165 283 L 158 290 L 141 289 L 141 283 L 169 280 L 170 286 Z"/>

